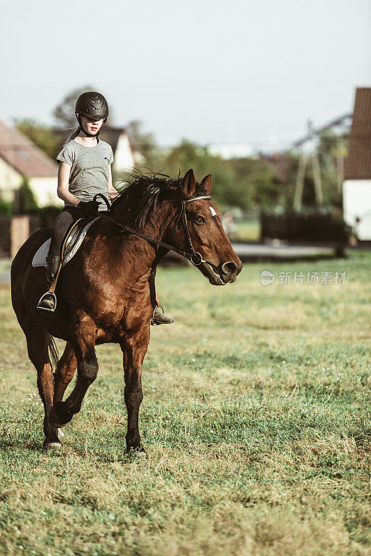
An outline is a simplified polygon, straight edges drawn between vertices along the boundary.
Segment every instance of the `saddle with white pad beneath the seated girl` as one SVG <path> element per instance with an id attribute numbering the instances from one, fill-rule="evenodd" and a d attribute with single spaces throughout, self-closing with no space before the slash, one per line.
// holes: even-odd
<path id="1" fill-rule="evenodd" d="M 87 218 L 79 218 L 72 224 L 72 226 L 67 231 L 65 239 L 63 240 L 62 246 L 60 248 L 60 258 L 62 259 L 62 266 L 66 265 L 71 261 L 72 257 L 79 250 L 81 243 L 83 243 L 83 238 L 85 238 L 88 229 L 93 222 L 98 220 L 99 216 L 88 216 Z M 35 266 L 47 266 L 47 254 L 49 252 L 49 247 L 51 243 L 51 238 L 47 239 L 40 245 L 38 250 L 35 252 L 32 265 Z"/>

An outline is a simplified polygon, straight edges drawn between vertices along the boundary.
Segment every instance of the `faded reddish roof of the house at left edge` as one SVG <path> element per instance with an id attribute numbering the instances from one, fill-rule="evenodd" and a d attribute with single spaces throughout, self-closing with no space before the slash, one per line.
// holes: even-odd
<path id="1" fill-rule="evenodd" d="M 21 131 L 0 120 L 0 157 L 26 177 L 56 177 L 58 164 Z"/>

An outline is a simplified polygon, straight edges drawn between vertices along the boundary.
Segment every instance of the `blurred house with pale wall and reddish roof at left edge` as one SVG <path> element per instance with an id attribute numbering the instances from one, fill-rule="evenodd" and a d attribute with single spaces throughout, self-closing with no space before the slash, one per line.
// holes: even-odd
<path id="1" fill-rule="evenodd" d="M 28 179 L 39 206 L 60 204 L 56 195 L 58 164 L 21 131 L 0 120 L 0 199 L 17 201 L 17 191 Z"/>

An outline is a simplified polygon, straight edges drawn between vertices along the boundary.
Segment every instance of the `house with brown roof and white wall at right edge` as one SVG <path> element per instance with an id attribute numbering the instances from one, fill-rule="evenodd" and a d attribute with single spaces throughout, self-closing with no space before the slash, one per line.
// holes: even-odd
<path id="1" fill-rule="evenodd" d="M 357 88 L 343 182 L 344 220 L 371 240 L 371 87 Z"/>

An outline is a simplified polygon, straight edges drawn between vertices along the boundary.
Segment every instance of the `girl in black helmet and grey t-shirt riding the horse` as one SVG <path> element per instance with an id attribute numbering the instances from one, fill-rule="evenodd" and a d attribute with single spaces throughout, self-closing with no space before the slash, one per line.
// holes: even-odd
<path id="1" fill-rule="evenodd" d="M 47 292 L 38 302 L 38 309 L 46 311 L 56 309 L 56 297 L 49 293 L 49 288 L 61 263 L 60 247 L 67 230 L 79 218 L 106 210 L 103 200 L 92 200 L 94 195 L 101 193 L 107 200 L 117 195 L 110 167 L 113 163 L 112 148 L 98 138 L 101 126 L 108 117 L 106 99 L 96 91 L 83 92 L 76 101 L 75 114 L 79 127 L 69 136 L 56 157 L 59 164 L 57 195 L 65 202 L 65 207 L 51 229 L 47 255 Z M 157 295 L 156 304 L 160 306 Z M 153 323 L 174 322 L 161 313 L 158 306 L 154 311 Z"/>

